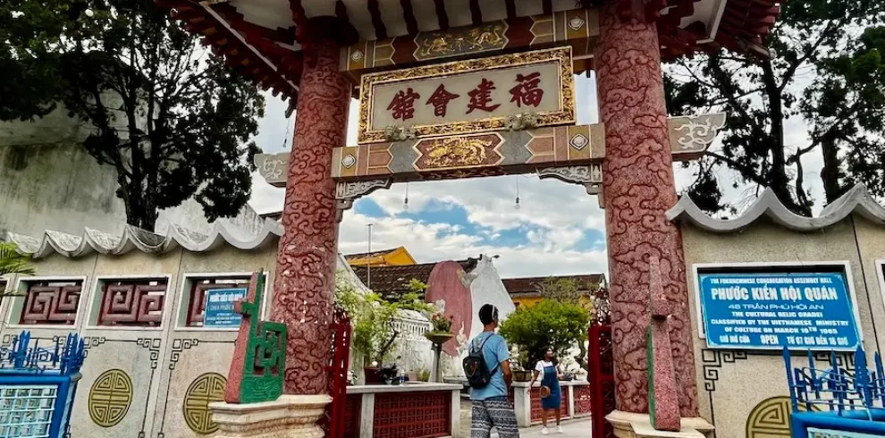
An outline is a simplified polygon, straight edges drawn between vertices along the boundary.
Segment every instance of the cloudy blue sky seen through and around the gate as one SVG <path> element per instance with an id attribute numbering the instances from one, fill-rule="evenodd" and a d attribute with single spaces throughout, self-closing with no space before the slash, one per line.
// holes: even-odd
<path id="1" fill-rule="evenodd" d="M 598 122 L 594 77 L 577 76 L 577 122 Z M 267 95 L 265 118 L 259 122 L 257 144 L 265 153 L 291 148 L 293 114 L 286 105 Z M 348 145 L 356 144 L 358 102 L 350 105 Z M 788 142 L 797 146 L 808 139 L 800 118 L 787 121 Z M 717 147 L 714 143 L 712 147 Z M 820 173 L 822 159 L 808 155 L 803 162 L 809 180 Z M 732 188 L 734 175 L 719 176 L 728 199 L 747 197 L 747 188 Z M 690 170 L 677 166 L 677 190 L 692 181 Z M 557 180 L 541 181 L 535 175 L 502 176 L 408 184 L 394 184 L 359 198 L 344 213 L 339 235 L 343 254 L 365 252 L 369 224 L 373 250 L 404 246 L 418 263 L 493 257 L 502 278 L 559 274 L 608 276 L 605 216 L 595 196 L 582 186 Z M 519 208 L 515 199 L 519 196 Z M 821 194 L 820 184 L 811 188 Z M 283 189 L 268 185 L 257 173 L 252 179 L 250 205 L 258 213 L 282 210 Z M 748 204 L 747 204 L 748 205 Z"/>

